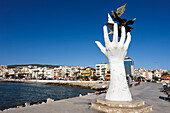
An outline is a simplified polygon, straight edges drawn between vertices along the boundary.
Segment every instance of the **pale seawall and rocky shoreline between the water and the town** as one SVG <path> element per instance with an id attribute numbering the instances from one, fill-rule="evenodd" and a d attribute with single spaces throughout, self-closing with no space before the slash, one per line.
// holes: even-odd
<path id="1" fill-rule="evenodd" d="M 109 86 L 109 81 L 60 81 L 60 80 L 16 80 L 4 79 L 0 82 L 7 83 L 43 83 L 45 85 L 67 86 L 91 89 L 96 91 L 106 90 Z"/>

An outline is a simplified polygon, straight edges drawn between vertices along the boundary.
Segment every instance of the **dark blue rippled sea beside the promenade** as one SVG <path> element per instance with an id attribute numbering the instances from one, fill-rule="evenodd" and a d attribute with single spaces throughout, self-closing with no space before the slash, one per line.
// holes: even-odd
<path id="1" fill-rule="evenodd" d="M 95 91 L 40 83 L 0 83 L 0 110 L 24 105 L 26 102 L 42 102 L 47 98 L 60 100 L 92 92 Z"/>

